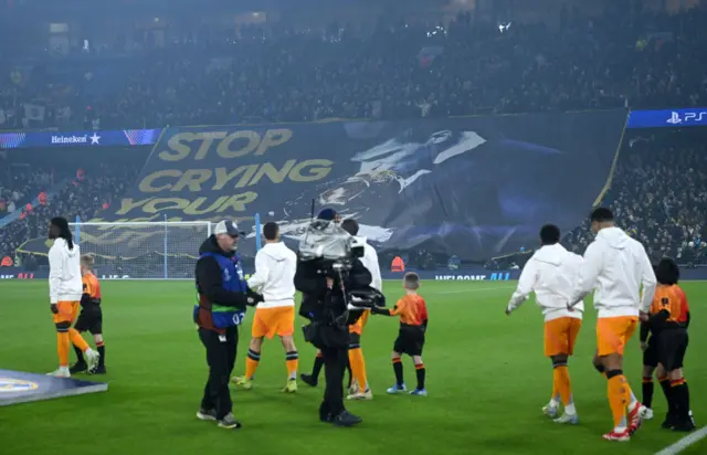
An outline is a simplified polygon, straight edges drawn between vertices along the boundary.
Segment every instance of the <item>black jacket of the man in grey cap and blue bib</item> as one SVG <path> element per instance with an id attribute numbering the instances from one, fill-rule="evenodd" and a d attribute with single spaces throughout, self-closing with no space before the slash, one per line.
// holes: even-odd
<path id="1" fill-rule="evenodd" d="M 221 254 L 225 257 L 234 256 L 234 252 L 225 252 L 221 250 L 214 235 L 211 235 L 201 244 L 199 254 L 201 255 L 203 253 Z M 223 288 L 221 267 L 213 257 L 207 256 L 197 261 L 194 275 L 197 281 L 197 292 L 199 293 L 199 315 L 197 324 L 199 327 L 204 329 L 222 331 L 213 327 L 211 304 L 235 307 L 244 310 L 247 303 L 247 295 L 245 293 L 234 293 Z"/>

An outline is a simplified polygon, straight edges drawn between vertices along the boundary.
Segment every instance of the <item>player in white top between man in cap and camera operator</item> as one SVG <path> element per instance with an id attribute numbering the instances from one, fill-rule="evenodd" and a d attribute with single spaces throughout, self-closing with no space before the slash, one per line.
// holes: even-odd
<path id="1" fill-rule="evenodd" d="M 233 378 L 233 382 L 250 390 L 261 360 L 263 338 L 277 335 L 285 348 L 287 384 L 283 392 L 297 391 L 297 364 L 299 356 L 295 347 L 295 273 L 297 255 L 279 242 L 276 223 L 263 226 L 265 246 L 255 254 L 255 274 L 247 281 L 251 289 L 263 295 L 265 301 L 257 304 L 253 318 L 251 345 L 245 360 L 245 374 Z"/>

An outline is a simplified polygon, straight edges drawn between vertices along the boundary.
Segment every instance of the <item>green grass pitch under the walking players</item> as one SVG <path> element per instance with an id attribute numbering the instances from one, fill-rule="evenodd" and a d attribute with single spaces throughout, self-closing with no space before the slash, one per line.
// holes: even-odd
<path id="1" fill-rule="evenodd" d="M 0 409 L 0 453 L 198 454 L 203 449 L 255 455 L 346 454 L 652 454 L 683 434 L 661 430 L 665 400 L 655 385 L 656 419 L 627 444 L 601 434 L 612 426 L 606 381 L 592 368 L 594 311 L 587 311 L 570 374 L 579 426 L 545 417 L 540 408 L 551 391 L 551 368 L 542 357 L 542 317 L 532 301 L 504 315 L 514 283 L 425 282 L 430 329 L 424 351 L 429 398 L 386 394 L 393 383 L 390 349 L 398 321 L 371 316 L 362 338 L 372 402 L 347 403 L 363 417 L 356 428 L 319 423 L 321 385 L 285 384 L 284 351 L 266 341 L 252 391 L 232 388 L 234 413 L 244 428 L 230 432 L 200 422 L 207 378 L 204 350 L 191 322 L 193 285 L 187 282 L 104 282 L 104 330 L 109 383 L 107 393 L 19 404 Z M 707 351 L 704 301 L 707 283 L 685 283 L 694 326 L 686 377 L 698 424 L 707 419 Z M 394 303 L 399 283 L 387 282 Z M 0 282 L 4 320 L 0 368 L 48 372 L 56 367 L 55 336 L 45 282 Z M 249 311 L 252 316 L 252 311 Z M 249 317 L 241 330 L 234 373 L 242 374 L 250 338 Z M 297 321 L 299 325 L 300 321 Z M 300 371 L 312 368 L 314 349 L 296 330 Z M 89 339 L 89 336 L 86 337 Z M 91 340 L 93 341 L 93 340 Z M 625 371 L 641 396 L 637 335 L 626 351 Z M 73 357 L 73 353 L 72 353 Z M 404 360 L 405 380 L 414 368 Z M 707 440 L 686 454 L 707 453 Z"/>

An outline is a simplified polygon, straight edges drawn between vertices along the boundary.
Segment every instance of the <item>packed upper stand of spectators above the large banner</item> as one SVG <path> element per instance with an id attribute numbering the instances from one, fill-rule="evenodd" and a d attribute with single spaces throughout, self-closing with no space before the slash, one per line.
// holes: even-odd
<path id="1" fill-rule="evenodd" d="M 0 128 L 692 106 L 707 97 L 707 67 L 694 64 L 707 57 L 705 30 L 707 13 L 692 9 L 593 19 L 570 11 L 559 30 L 460 15 L 444 29 L 245 28 L 238 41 L 233 30 L 183 32 L 117 63 L 59 60 L 31 75 L 10 71 Z"/>

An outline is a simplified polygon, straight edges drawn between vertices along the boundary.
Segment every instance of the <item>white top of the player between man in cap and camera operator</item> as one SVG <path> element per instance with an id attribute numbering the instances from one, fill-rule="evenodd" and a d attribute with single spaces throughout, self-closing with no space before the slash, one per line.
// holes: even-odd
<path id="1" fill-rule="evenodd" d="M 295 306 L 295 273 L 297 255 L 284 243 L 266 243 L 255 254 L 255 273 L 247 285 L 261 294 L 265 301 L 257 308 Z"/>

